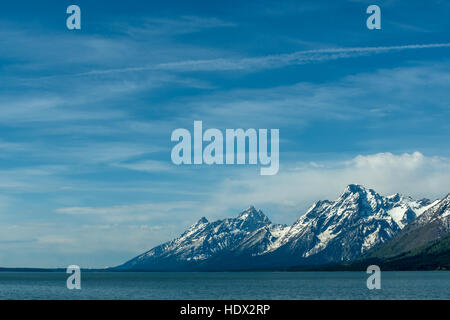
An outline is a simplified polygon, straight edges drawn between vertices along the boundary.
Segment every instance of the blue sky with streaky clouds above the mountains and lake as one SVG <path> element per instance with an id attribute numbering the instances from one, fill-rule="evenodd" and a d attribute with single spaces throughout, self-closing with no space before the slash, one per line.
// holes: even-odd
<path id="1" fill-rule="evenodd" d="M 2 3 L 0 266 L 115 266 L 202 216 L 292 224 L 350 183 L 445 196 L 449 16 L 437 0 Z M 195 120 L 279 129 L 278 174 L 174 165 L 171 133 Z"/>

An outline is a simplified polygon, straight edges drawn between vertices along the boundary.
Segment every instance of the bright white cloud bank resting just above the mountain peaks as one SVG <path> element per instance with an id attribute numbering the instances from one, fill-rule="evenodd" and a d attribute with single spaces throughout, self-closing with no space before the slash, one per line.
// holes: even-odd
<path id="1" fill-rule="evenodd" d="M 291 223 L 314 201 L 336 199 L 351 183 L 390 195 L 441 198 L 450 192 L 450 159 L 420 152 L 358 155 L 349 161 L 298 163 L 276 176 L 234 176 L 223 182 L 210 203 L 214 208 L 255 204 L 275 222 Z M 213 210 L 212 210 L 213 211 Z"/>

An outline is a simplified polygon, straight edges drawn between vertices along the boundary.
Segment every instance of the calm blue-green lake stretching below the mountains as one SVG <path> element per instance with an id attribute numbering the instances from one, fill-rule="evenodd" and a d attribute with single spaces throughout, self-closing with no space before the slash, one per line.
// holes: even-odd
<path id="1" fill-rule="evenodd" d="M 450 272 L 83 272 L 81 290 L 65 273 L 0 272 L 0 299 L 450 299 Z"/>

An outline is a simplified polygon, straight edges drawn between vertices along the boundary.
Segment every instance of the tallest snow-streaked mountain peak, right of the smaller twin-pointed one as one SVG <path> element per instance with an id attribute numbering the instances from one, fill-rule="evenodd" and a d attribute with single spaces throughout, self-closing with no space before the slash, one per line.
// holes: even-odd
<path id="1" fill-rule="evenodd" d="M 351 260 L 392 238 L 431 205 L 349 185 L 336 201 L 314 203 L 271 250 L 315 263 Z"/>

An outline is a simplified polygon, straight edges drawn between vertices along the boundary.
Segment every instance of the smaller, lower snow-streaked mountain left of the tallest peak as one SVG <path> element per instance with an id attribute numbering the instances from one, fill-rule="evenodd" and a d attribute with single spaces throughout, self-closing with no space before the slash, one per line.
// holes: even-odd
<path id="1" fill-rule="evenodd" d="M 227 252 L 264 251 L 273 234 L 283 226 L 272 224 L 253 206 L 236 218 L 208 222 L 201 218 L 180 237 L 157 246 L 128 261 L 120 268 L 188 268 Z"/>

